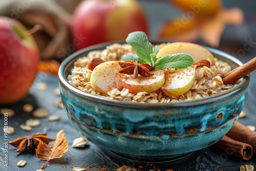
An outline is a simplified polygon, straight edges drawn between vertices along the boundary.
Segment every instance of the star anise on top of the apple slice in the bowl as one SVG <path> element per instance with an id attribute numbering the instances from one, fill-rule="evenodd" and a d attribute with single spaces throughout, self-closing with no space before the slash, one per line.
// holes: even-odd
<path id="1" fill-rule="evenodd" d="M 154 75 L 151 71 L 155 70 L 155 68 L 151 67 L 147 63 L 140 64 L 138 63 L 138 60 L 135 62 L 132 60 L 125 60 L 124 62 L 118 63 L 123 68 L 119 73 L 133 75 L 134 78 L 138 78 L 139 74 L 143 77 Z"/>

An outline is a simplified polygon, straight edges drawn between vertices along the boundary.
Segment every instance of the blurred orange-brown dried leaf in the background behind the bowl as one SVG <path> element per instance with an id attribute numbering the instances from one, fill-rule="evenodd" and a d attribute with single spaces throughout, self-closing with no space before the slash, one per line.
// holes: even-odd
<path id="1" fill-rule="evenodd" d="M 238 26 L 243 23 L 244 14 L 239 8 L 219 8 L 212 15 L 196 15 L 184 25 L 183 17 L 174 17 L 160 26 L 159 39 L 196 41 L 200 37 L 209 46 L 218 47 L 227 24 Z"/>

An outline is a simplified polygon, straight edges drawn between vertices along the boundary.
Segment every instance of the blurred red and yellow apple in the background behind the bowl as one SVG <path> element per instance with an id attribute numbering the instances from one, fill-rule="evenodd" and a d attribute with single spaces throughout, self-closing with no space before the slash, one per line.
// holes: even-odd
<path id="1" fill-rule="evenodd" d="M 72 36 L 76 50 L 106 41 L 125 40 L 133 31 L 148 33 L 147 20 L 135 0 L 82 1 L 74 11 Z"/>

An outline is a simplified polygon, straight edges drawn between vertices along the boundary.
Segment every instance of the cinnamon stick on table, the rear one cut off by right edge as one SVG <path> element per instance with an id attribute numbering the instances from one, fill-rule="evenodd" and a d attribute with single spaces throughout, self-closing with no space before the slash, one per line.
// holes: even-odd
<path id="1" fill-rule="evenodd" d="M 245 125 L 236 122 L 226 135 L 234 140 L 250 144 L 256 154 L 256 132 L 251 131 Z"/>

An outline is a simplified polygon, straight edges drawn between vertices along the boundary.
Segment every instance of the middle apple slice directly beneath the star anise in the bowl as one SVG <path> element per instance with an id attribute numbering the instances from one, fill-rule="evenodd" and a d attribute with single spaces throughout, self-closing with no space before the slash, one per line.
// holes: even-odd
<path id="1" fill-rule="evenodd" d="M 123 87 L 128 89 L 131 93 L 154 92 L 163 86 L 165 77 L 163 70 L 155 69 L 152 73 L 154 75 L 150 77 L 143 77 L 139 75 L 138 78 L 134 78 L 133 75 L 123 74 Z"/>

